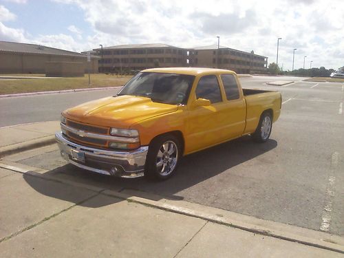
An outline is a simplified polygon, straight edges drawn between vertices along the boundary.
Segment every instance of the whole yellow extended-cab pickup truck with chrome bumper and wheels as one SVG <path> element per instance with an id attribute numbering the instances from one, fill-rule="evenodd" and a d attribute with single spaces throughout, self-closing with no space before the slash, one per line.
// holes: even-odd
<path id="1" fill-rule="evenodd" d="M 145 69 L 116 96 L 63 111 L 55 137 L 82 169 L 164 180 L 184 155 L 247 134 L 265 142 L 280 111 L 279 92 L 241 89 L 229 70 Z"/>

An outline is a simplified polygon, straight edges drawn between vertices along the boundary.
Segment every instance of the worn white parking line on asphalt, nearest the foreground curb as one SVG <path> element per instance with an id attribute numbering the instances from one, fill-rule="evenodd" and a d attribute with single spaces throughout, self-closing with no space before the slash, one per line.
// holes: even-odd
<path id="1" fill-rule="evenodd" d="M 339 153 L 335 151 L 331 157 L 331 166 L 330 166 L 330 175 L 328 177 L 327 188 L 325 191 L 325 205 L 323 208 L 323 215 L 321 217 L 321 225 L 320 230 L 328 232 L 330 231 L 331 220 L 332 220 L 332 211 L 333 211 L 333 199 L 334 199 L 334 183 L 336 182 L 336 178 L 334 177 L 334 173 L 336 171 L 336 166 L 339 160 Z"/>

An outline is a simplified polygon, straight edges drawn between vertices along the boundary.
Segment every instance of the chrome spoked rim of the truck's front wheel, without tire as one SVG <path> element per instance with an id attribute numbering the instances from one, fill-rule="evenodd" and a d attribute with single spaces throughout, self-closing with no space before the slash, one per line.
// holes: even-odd
<path id="1" fill-rule="evenodd" d="M 175 142 L 169 140 L 164 142 L 156 157 L 156 169 L 162 176 L 169 175 L 175 169 L 178 162 L 178 147 Z"/>

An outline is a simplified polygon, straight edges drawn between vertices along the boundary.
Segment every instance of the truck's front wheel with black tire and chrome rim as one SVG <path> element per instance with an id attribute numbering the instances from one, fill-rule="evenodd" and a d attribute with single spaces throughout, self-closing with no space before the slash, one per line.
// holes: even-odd
<path id="1" fill-rule="evenodd" d="M 149 144 L 144 175 L 154 180 L 171 178 L 177 170 L 181 155 L 180 140 L 177 137 L 158 136 Z"/>

